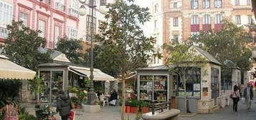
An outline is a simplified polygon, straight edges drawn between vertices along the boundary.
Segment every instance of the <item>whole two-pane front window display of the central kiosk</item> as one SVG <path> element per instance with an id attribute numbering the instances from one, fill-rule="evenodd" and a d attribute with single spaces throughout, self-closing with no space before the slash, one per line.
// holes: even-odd
<path id="1" fill-rule="evenodd" d="M 140 75 L 140 100 L 167 101 L 168 75 Z"/>

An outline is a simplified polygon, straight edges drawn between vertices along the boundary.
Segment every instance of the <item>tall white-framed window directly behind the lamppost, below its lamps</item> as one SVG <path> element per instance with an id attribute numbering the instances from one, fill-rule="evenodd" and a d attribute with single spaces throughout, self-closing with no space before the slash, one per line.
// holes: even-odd
<path id="1" fill-rule="evenodd" d="M 93 28 L 92 28 L 92 23 L 93 23 Z M 93 29 L 93 34 L 96 32 L 96 18 L 93 17 L 93 22 L 92 22 L 92 16 L 87 15 L 86 18 L 86 40 L 90 41 L 91 40 L 91 29 Z"/>

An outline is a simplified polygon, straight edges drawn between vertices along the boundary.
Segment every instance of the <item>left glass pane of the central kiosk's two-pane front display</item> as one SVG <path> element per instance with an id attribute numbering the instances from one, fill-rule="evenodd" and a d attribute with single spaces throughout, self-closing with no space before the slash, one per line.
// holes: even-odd
<path id="1" fill-rule="evenodd" d="M 153 76 L 140 76 L 140 99 L 152 100 Z"/>

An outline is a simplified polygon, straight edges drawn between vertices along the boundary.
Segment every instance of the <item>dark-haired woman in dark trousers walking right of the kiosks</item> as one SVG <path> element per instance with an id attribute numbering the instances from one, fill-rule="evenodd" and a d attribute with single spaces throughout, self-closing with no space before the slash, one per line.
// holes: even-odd
<path id="1" fill-rule="evenodd" d="M 238 101 L 240 101 L 240 91 L 237 85 L 234 85 L 234 89 L 231 93 L 231 96 L 233 99 L 233 111 L 237 112 L 237 104 L 238 104 Z"/>

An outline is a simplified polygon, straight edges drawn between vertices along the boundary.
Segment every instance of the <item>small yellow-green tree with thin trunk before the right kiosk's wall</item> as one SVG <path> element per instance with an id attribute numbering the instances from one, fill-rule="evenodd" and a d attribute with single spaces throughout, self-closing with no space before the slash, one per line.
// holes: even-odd
<path id="1" fill-rule="evenodd" d="M 186 76 L 186 74 L 188 74 L 188 71 L 200 71 L 207 60 L 196 51 L 194 46 L 186 42 L 183 44 L 164 44 L 163 48 L 170 53 L 166 59 L 166 66 L 169 67 L 172 74 L 178 74 L 181 81 L 184 82 L 184 110 L 186 113 L 186 81 L 191 79 L 190 76 Z M 202 71 L 205 72 L 204 70 L 201 70 L 201 72 Z"/>

